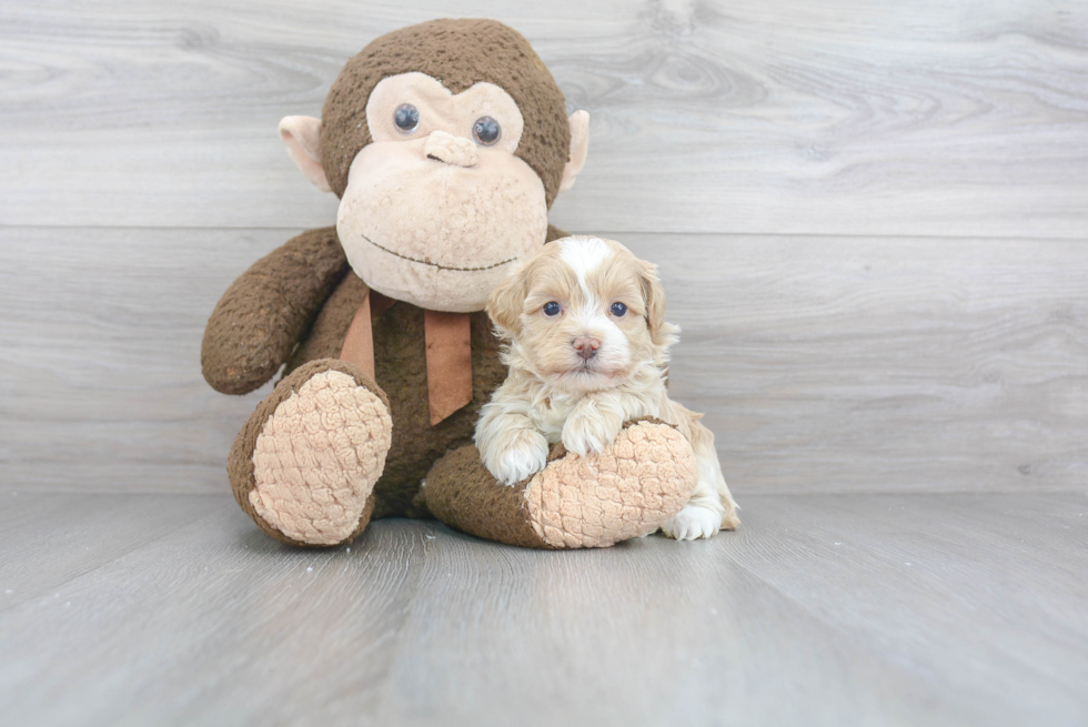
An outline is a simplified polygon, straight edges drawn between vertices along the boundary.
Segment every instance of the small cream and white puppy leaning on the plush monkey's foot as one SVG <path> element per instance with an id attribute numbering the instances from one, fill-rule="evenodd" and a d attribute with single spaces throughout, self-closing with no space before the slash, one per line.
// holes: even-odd
<path id="1" fill-rule="evenodd" d="M 476 424 L 484 465 L 507 485 L 544 468 L 550 444 L 601 452 L 624 422 L 676 426 L 698 458 L 691 502 L 662 529 L 686 541 L 741 524 L 702 414 L 668 398 L 668 347 L 656 267 L 618 242 L 564 238 L 525 261 L 492 292 L 487 314 L 508 342 L 510 375 Z"/>

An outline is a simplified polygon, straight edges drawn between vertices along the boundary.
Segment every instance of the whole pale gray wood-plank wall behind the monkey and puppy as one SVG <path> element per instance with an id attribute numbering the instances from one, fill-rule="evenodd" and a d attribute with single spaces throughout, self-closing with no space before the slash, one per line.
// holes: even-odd
<path id="1" fill-rule="evenodd" d="M 590 161 L 553 222 L 661 263 L 737 492 L 1088 475 L 1088 3 L 6 0 L 0 486 L 226 491 L 226 285 L 335 200 L 275 127 L 434 17 L 521 30 Z"/>

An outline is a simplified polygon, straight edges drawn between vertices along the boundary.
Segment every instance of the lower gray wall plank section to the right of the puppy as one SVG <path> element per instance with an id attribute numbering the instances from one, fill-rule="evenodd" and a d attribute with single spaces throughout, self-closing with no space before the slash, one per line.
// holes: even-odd
<path id="1" fill-rule="evenodd" d="M 1088 485 L 1088 254 L 1060 241 L 625 235 L 671 393 L 737 487 Z"/>

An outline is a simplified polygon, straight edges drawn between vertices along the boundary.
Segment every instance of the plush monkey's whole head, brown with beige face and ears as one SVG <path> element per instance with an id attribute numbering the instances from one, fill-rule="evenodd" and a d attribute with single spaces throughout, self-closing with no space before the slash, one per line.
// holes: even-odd
<path id="1" fill-rule="evenodd" d="M 426 71 L 426 72 L 422 72 Z M 547 208 L 585 164 L 590 114 L 528 41 L 494 20 L 432 20 L 351 58 L 322 119 L 280 135 L 340 195 L 340 242 L 374 290 L 437 311 L 483 310 L 544 244 Z"/>

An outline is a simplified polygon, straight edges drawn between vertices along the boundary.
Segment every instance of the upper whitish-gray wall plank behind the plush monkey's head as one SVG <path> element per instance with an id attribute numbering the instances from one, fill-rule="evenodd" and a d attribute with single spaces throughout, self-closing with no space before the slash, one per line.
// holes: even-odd
<path id="1" fill-rule="evenodd" d="M 1088 6 L 16 0 L 0 224 L 330 224 L 275 128 L 394 28 L 523 31 L 591 155 L 565 229 L 1084 238 Z"/>

